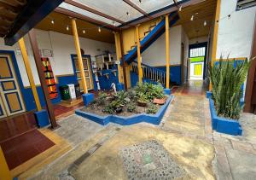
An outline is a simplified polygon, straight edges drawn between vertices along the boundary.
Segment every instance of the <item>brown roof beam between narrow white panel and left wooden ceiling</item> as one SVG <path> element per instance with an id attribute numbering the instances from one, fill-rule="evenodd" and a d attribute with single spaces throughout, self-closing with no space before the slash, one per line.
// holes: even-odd
<path id="1" fill-rule="evenodd" d="M 79 20 L 86 20 L 86 21 L 88 21 L 92 24 L 95 24 L 96 26 L 102 26 L 104 28 L 107 28 L 107 29 L 110 29 L 110 30 L 113 30 L 113 31 L 119 31 L 119 27 L 117 27 L 117 26 L 112 26 L 112 25 L 110 25 L 108 23 L 105 23 L 101 20 L 95 20 L 95 19 L 92 19 L 92 18 L 90 18 L 86 15 L 81 15 L 79 13 L 75 13 L 75 12 L 73 12 L 71 10 L 68 10 L 68 9 L 63 9 L 63 8 L 58 7 L 58 8 L 55 9 L 55 12 L 60 13 L 62 15 L 68 15 L 70 17 L 73 17 L 73 18 L 76 18 L 76 19 L 79 19 Z"/>

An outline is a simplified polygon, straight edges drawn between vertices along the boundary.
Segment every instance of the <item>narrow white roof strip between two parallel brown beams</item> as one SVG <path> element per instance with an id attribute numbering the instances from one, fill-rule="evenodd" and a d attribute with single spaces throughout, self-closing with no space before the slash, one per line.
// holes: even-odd
<path id="1" fill-rule="evenodd" d="M 104 18 L 100 15 L 95 15 L 93 13 L 90 13 L 89 11 L 86 11 L 84 9 L 79 9 L 73 5 L 68 4 L 68 3 L 61 3 L 61 5 L 59 7 L 63 8 L 63 9 L 68 9 L 68 10 L 78 13 L 80 15 L 85 15 L 94 20 L 101 20 L 102 22 L 108 23 L 109 25 L 113 25 L 113 20 L 108 20 L 107 18 Z M 120 23 L 115 22 L 115 26 L 119 26 L 119 25 L 120 25 Z"/>

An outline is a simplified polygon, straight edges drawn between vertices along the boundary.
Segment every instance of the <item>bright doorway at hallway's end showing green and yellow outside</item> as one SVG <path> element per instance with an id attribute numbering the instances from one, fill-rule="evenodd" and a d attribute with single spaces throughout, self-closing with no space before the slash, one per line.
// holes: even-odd
<path id="1" fill-rule="evenodd" d="M 207 72 L 207 42 L 190 44 L 189 60 L 189 79 L 205 79 Z"/>

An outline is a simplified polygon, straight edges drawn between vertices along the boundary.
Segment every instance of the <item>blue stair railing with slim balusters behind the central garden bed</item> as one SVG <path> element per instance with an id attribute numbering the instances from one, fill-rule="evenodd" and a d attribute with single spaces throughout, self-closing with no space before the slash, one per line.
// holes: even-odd
<path id="1" fill-rule="evenodd" d="M 142 63 L 143 78 L 166 86 L 166 72 Z M 138 74 L 137 61 L 131 63 L 131 72 Z"/>

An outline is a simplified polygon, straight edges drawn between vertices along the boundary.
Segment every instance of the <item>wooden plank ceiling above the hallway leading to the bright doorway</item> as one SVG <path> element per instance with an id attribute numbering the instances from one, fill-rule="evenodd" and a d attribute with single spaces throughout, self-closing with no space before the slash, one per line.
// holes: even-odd
<path id="1" fill-rule="evenodd" d="M 182 25 L 189 38 L 207 36 L 214 20 L 217 0 L 206 0 L 202 3 L 186 7 L 179 11 L 180 20 L 177 25 Z M 190 20 L 194 15 L 194 20 Z M 207 26 L 204 26 L 204 21 Z"/>

